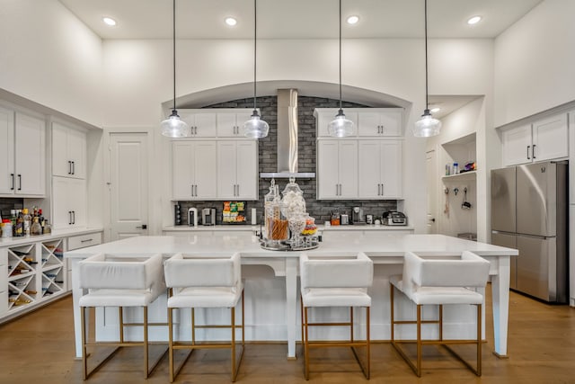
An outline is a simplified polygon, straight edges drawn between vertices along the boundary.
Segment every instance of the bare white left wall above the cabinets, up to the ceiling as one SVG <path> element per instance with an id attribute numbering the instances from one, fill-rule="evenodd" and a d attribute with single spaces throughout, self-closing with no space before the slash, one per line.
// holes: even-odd
<path id="1" fill-rule="evenodd" d="M 102 40 L 54 0 L 0 0 L 0 88 L 102 126 Z"/>

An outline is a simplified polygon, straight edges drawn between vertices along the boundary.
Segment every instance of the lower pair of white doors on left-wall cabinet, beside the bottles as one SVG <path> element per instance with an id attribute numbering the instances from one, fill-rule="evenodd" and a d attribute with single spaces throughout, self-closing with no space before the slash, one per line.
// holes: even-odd
<path id="1" fill-rule="evenodd" d="M 52 227 L 55 229 L 86 226 L 85 180 L 52 177 Z"/>

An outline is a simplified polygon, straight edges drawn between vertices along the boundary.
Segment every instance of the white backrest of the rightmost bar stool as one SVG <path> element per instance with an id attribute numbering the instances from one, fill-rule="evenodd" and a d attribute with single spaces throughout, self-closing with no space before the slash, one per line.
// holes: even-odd
<path id="1" fill-rule="evenodd" d="M 412 252 L 403 260 L 403 289 L 406 293 L 417 287 L 484 287 L 490 263 L 469 251 L 457 259 L 423 259 Z"/>

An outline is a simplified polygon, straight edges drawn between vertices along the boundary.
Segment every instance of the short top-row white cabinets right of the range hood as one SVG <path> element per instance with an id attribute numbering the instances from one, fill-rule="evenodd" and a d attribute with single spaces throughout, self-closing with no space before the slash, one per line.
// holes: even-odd
<path id="1" fill-rule="evenodd" d="M 338 108 L 316 108 L 314 116 L 317 124 L 317 137 L 329 137 L 327 126 L 335 119 Z M 354 137 L 403 136 L 402 108 L 346 108 L 346 118 L 353 121 Z"/>

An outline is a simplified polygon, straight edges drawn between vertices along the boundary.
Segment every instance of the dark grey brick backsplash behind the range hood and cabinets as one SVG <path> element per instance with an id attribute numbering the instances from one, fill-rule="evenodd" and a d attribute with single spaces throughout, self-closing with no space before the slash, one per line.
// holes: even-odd
<path id="1" fill-rule="evenodd" d="M 278 170 L 278 157 L 277 157 L 277 133 L 278 133 L 278 98 L 277 96 L 262 96 L 257 98 L 257 107 L 261 112 L 261 119 L 270 124 L 270 132 L 267 138 L 259 139 L 259 172 L 277 172 Z M 317 172 L 315 169 L 315 108 L 338 108 L 339 100 L 326 99 L 324 97 L 307 97 L 299 96 L 297 100 L 297 116 L 298 116 L 298 171 L 299 172 Z M 217 103 L 208 105 L 205 108 L 252 108 L 253 99 L 239 99 L 226 103 Z M 342 102 L 342 107 L 345 108 L 362 108 L 366 107 L 358 103 Z M 345 112 L 345 111 L 344 111 Z M 287 179 L 277 179 L 276 183 L 279 184 L 279 192 L 282 192 L 288 183 Z M 298 179 L 296 183 L 304 192 L 305 204 L 307 212 L 315 218 L 316 223 L 323 223 L 329 220 L 332 215 L 332 210 L 339 209 L 340 213 L 347 211 L 351 214 L 352 207 L 362 207 L 364 213 L 372 214 L 376 218 L 381 218 L 381 215 L 386 210 L 395 210 L 397 208 L 397 201 L 374 201 L 374 200 L 349 200 L 349 201 L 330 201 L 330 200 L 316 200 L 315 179 Z M 251 209 L 257 209 L 258 215 L 263 214 L 263 198 L 270 192 L 270 179 L 260 179 L 260 200 L 247 201 L 248 209 L 248 222 L 251 222 Z M 190 207 L 195 207 L 198 210 L 202 208 L 216 208 L 217 224 L 222 221 L 222 201 L 179 201 L 181 206 L 181 223 L 188 224 L 187 214 Z M 199 214 L 201 219 L 201 214 Z M 258 224 L 260 219 L 258 219 Z"/>

